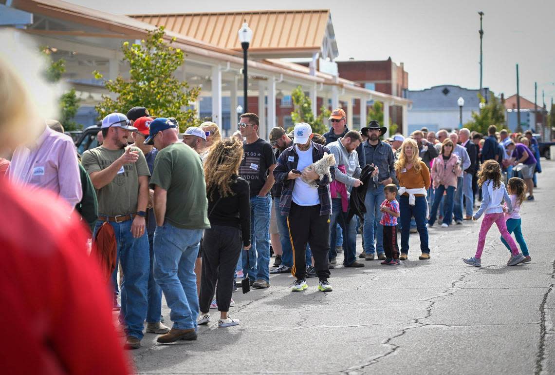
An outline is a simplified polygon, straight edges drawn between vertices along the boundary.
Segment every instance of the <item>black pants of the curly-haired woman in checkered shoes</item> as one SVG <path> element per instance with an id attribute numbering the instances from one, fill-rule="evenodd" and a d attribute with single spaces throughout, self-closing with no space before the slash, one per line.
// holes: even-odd
<path id="1" fill-rule="evenodd" d="M 218 311 L 229 311 L 235 268 L 241 253 L 240 229 L 212 225 L 204 231 L 203 273 L 200 277 L 199 308 L 201 312 L 210 311 L 210 303 L 216 289 Z"/>

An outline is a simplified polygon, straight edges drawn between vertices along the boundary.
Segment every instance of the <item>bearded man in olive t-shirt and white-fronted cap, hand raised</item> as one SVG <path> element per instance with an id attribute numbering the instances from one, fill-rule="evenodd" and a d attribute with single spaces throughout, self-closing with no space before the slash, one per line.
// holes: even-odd
<path id="1" fill-rule="evenodd" d="M 102 120 L 102 146 L 85 151 L 81 158 L 97 191 L 98 221 L 93 238 L 105 222 L 114 229 L 117 259 L 125 276 L 122 317 L 127 326 L 125 346 L 130 349 L 139 348 L 143 338 L 150 262 L 145 230 L 150 172 L 143 152 L 127 147 L 127 138 L 135 131 L 124 114 L 110 113 Z M 117 268 L 112 283 L 117 292 Z"/>

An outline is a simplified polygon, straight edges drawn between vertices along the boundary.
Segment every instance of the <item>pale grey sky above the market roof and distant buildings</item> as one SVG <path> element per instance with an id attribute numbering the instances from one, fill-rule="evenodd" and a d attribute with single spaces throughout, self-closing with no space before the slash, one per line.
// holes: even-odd
<path id="1" fill-rule="evenodd" d="M 66 0 L 114 14 L 189 13 L 266 9 L 330 9 L 338 61 L 405 63 L 408 87 L 443 84 L 480 87 L 480 16 L 483 11 L 483 87 L 549 107 L 555 96 L 553 0 Z M 524 6 L 524 7 L 523 7 Z M 256 33 L 256 30 L 254 30 Z"/>

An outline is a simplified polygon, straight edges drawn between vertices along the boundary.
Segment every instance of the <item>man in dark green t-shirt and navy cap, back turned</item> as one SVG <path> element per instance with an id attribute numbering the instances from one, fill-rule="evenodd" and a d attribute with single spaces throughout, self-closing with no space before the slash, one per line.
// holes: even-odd
<path id="1" fill-rule="evenodd" d="M 145 144 L 158 155 L 150 178 L 154 189 L 154 278 L 171 309 L 173 328 L 158 337 L 169 343 L 196 340 L 199 300 L 194 273 L 203 229 L 210 228 L 203 164 L 196 152 L 179 141 L 175 124 L 159 117 L 150 123 Z"/>

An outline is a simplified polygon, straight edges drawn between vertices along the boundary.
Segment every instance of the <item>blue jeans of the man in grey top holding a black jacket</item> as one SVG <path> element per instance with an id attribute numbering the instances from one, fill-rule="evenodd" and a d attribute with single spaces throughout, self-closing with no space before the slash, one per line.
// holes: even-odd
<path id="1" fill-rule="evenodd" d="M 347 212 L 342 211 L 341 198 L 331 199 L 331 209 L 330 229 L 335 228 L 338 225 L 341 227 L 341 231 L 343 232 L 343 253 L 345 255 L 343 264 L 347 266 L 356 261 L 356 218 L 352 217 L 349 225 L 345 225 Z M 336 231 L 331 230 L 330 252 L 328 257 L 330 261 L 337 256 L 334 246 L 336 242 Z"/>

